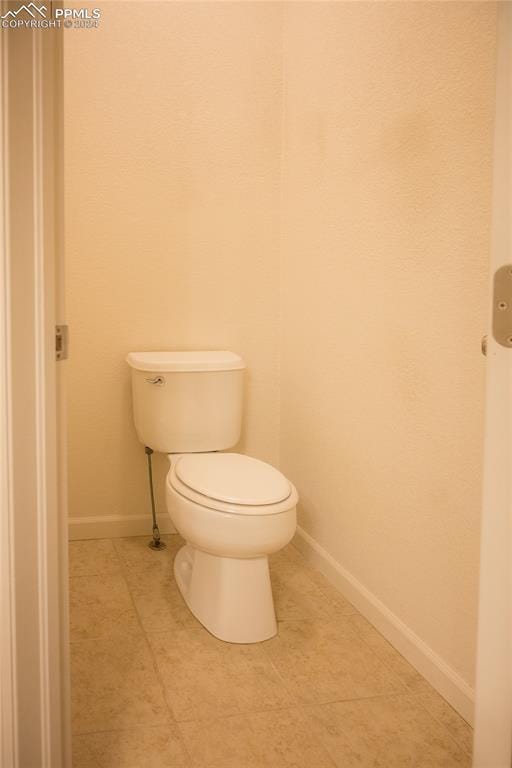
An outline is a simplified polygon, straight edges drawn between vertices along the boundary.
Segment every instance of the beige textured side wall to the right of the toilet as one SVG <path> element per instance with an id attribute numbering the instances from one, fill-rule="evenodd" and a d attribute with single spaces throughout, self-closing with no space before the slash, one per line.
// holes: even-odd
<path id="1" fill-rule="evenodd" d="M 290 3 L 281 467 L 471 681 L 495 6 Z"/>

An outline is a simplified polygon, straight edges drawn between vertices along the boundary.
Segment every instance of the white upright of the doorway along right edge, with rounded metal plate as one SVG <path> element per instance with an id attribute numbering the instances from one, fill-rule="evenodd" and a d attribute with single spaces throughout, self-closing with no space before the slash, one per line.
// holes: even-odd
<path id="1" fill-rule="evenodd" d="M 512 264 L 512 2 L 498 3 L 491 284 Z M 474 768 L 512 765 L 512 349 L 487 338 Z"/>

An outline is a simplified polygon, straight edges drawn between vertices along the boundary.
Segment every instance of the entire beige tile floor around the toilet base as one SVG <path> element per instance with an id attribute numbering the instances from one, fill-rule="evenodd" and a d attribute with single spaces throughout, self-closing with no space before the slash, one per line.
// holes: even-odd
<path id="1" fill-rule="evenodd" d="M 279 635 L 229 645 L 163 538 L 70 544 L 73 768 L 469 768 L 469 725 L 292 546 Z"/>

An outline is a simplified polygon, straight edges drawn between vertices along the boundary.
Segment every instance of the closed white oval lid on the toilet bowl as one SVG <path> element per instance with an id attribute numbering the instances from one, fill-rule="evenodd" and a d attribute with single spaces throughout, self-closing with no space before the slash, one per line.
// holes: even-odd
<path id="1" fill-rule="evenodd" d="M 243 506 L 277 504 L 292 491 L 277 469 L 240 453 L 186 454 L 176 464 L 176 476 L 203 496 Z"/>

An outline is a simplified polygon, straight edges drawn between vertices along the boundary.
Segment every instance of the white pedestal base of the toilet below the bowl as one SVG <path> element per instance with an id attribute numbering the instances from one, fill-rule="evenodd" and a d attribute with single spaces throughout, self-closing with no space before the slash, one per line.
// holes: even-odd
<path id="1" fill-rule="evenodd" d="M 219 557 L 186 544 L 174 575 L 196 619 L 219 640 L 258 643 L 277 633 L 266 556 Z"/>

